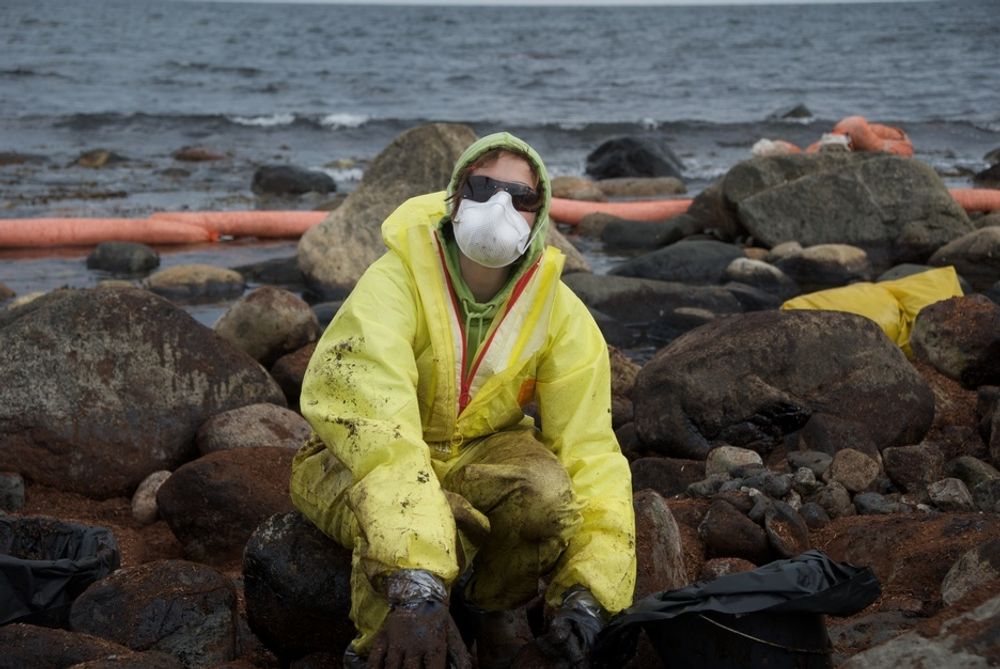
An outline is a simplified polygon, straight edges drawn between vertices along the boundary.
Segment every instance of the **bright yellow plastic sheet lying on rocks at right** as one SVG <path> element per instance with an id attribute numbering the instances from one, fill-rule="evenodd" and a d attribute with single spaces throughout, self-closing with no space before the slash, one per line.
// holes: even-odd
<path id="1" fill-rule="evenodd" d="M 853 283 L 799 295 L 782 304 L 781 308 L 825 309 L 865 316 L 875 321 L 907 357 L 913 357 L 910 332 L 920 310 L 935 302 L 961 295 L 962 287 L 958 283 L 955 268 L 948 266 L 911 274 L 902 279 Z"/>

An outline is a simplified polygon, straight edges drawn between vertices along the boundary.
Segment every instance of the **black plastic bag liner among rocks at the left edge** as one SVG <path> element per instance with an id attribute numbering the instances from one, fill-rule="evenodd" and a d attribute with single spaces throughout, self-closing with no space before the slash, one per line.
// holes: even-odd
<path id="1" fill-rule="evenodd" d="M 0 625 L 65 626 L 73 600 L 118 568 L 103 527 L 44 517 L 0 517 Z"/>

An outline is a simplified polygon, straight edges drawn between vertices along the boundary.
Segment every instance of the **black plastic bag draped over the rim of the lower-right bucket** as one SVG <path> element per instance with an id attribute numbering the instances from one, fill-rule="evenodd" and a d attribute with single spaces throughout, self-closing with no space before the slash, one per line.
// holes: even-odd
<path id="1" fill-rule="evenodd" d="M 688 614 L 724 614 L 738 619 L 758 613 L 847 616 L 881 593 L 871 569 L 835 562 L 817 550 L 777 560 L 753 571 L 729 574 L 640 600 L 602 632 L 598 665 L 621 666 L 634 652 L 639 631 Z M 775 619 L 782 619 L 779 615 Z M 792 619 L 789 617 L 789 619 Z M 708 621 L 711 622 L 711 621 Z M 795 640 L 788 639 L 794 646 Z"/>

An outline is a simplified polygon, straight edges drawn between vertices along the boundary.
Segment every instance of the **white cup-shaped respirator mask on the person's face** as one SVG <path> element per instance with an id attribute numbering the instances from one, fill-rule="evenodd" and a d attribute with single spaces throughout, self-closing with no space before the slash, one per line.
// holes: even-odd
<path id="1" fill-rule="evenodd" d="M 483 267 L 506 267 L 531 243 L 531 227 L 504 190 L 486 202 L 463 198 L 452 227 L 458 248 Z"/>

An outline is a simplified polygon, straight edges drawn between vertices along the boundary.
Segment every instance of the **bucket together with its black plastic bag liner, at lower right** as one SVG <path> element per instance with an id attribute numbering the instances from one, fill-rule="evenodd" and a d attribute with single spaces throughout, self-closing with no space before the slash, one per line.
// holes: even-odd
<path id="1" fill-rule="evenodd" d="M 605 628 L 594 663 L 624 665 L 645 629 L 664 666 L 829 666 L 822 616 L 851 615 L 880 594 L 871 569 L 807 551 L 646 597 Z"/>

